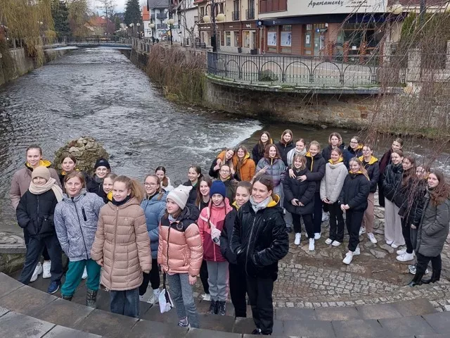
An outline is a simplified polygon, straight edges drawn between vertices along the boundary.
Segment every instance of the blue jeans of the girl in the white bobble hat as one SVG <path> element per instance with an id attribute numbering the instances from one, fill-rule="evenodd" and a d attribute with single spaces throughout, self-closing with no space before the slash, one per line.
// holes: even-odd
<path id="1" fill-rule="evenodd" d="M 169 281 L 170 287 L 169 294 L 172 297 L 172 301 L 174 301 L 178 318 L 184 319 L 187 317 L 191 327 L 198 329 L 200 323 L 192 294 L 192 286 L 188 281 L 188 274 L 177 273 L 175 275 L 167 275 L 167 280 Z"/>

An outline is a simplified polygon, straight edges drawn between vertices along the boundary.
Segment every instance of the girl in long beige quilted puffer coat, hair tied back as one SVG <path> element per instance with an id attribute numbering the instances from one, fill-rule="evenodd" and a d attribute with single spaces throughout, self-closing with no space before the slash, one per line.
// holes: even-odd
<path id="1" fill-rule="evenodd" d="M 143 189 L 126 176 L 114 180 L 113 201 L 98 215 L 91 258 L 103 266 L 101 284 L 110 291 L 113 313 L 139 317 L 142 273 L 152 267 L 146 217 L 140 206 Z"/>

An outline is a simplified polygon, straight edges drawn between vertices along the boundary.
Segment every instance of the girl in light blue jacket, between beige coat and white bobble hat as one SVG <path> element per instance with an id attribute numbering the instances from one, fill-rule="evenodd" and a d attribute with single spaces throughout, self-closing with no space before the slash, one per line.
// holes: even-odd
<path id="1" fill-rule="evenodd" d="M 141 203 L 141 208 L 146 215 L 147 231 L 150 237 L 150 249 L 152 251 L 152 270 L 150 273 L 143 273 L 143 282 L 139 287 L 139 299 L 147 303 L 158 303 L 160 296 L 160 272 L 158 270 L 158 239 L 160 220 L 165 214 L 167 192 L 161 188 L 160 178 L 153 174 L 147 175 L 144 181 L 146 198 Z M 150 298 L 144 299 L 150 282 L 153 294 Z"/>

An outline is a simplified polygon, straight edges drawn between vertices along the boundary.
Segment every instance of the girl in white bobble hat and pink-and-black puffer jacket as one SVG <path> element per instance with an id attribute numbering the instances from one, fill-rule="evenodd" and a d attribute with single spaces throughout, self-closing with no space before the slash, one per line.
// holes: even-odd
<path id="1" fill-rule="evenodd" d="M 197 281 L 203 259 L 203 246 L 195 221 L 198 208 L 186 205 L 192 187 L 180 185 L 167 195 L 166 215 L 160 221 L 158 264 L 167 273 L 170 294 L 181 327 L 200 326 L 192 285 Z"/>

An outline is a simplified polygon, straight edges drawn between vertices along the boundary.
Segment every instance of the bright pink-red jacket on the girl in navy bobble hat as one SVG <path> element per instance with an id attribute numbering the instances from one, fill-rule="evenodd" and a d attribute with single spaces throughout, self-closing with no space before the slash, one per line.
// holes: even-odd
<path id="1" fill-rule="evenodd" d="M 214 206 L 212 201 L 207 208 L 204 208 L 198 218 L 198 230 L 203 243 L 203 259 L 212 262 L 226 261 L 220 251 L 220 246 L 212 242 L 211 230 L 215 226 L 220 232 L 224 229 L 226 214 L 233 210 L 229 199 L 224 199 L 224 207 Z"/>

